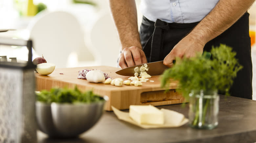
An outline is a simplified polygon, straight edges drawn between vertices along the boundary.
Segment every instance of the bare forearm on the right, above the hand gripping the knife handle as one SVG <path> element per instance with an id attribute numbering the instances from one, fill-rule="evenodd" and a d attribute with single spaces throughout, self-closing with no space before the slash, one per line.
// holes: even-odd
<path id="1" fill-rule="evenodd" d="M 202 45 L 206 44 L 234 24 L 253 2 L 254 0 L 220 0 L 188 37 Z"/>

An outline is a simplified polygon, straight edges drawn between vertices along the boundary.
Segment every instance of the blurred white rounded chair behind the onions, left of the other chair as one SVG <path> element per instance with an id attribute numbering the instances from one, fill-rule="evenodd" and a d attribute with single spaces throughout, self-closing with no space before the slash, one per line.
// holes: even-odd
<path id="1" fill-rule="evenodd" d="M 47 62 L 54 63 L 56 68 L 78 66 L 78 53 L 86 47 L 84 31 L 74 15 L 44 11 L 35 16 L 28 29 L 33 48 L 39 56 L 43 54 Z M 88 61 L 94 60 L 88 50 L 83 51 Z"/>

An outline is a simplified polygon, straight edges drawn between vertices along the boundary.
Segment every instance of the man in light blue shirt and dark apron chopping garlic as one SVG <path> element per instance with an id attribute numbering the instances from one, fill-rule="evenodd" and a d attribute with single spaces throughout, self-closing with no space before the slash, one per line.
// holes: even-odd
<path id="1" fill-rule="evenodd" d="M 109 0 L 122 51 L 118 64 L 126 68 L 176 57 L 192 57 L 220 43 L 233 47 L 243 69 L 230 89 L 252 99 L 252 63 L 247 9 L 254 0 L 141 0 L 140 31 L 134 0 Z"/>

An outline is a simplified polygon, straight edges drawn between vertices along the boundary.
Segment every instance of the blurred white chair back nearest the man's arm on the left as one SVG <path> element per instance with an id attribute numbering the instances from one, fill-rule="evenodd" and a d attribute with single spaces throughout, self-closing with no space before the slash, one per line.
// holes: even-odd
<path id="1" fill-rule="evenodd" d="M 85 41 L 96 65 L 117 67 L 120 51 L 117 30 L 110 12 L 100 12 L 86 27 Z"/>

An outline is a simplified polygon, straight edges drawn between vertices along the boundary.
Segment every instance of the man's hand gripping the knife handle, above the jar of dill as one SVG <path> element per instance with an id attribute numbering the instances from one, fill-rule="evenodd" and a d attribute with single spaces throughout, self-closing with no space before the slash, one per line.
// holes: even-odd
<path id="1" fill-rule="evenodd" d="M 196 40 L 194 37 L 188 35 L 174 46 L 172 51 L 164 58 L 163 64 L 172 67 L 173 60 L 176 60 L 176 57 L 182 59 L 183 57 L 194 57 L 197 53 L 202 54 L 204 45 L 205 43 L 202 41 Z"/>

